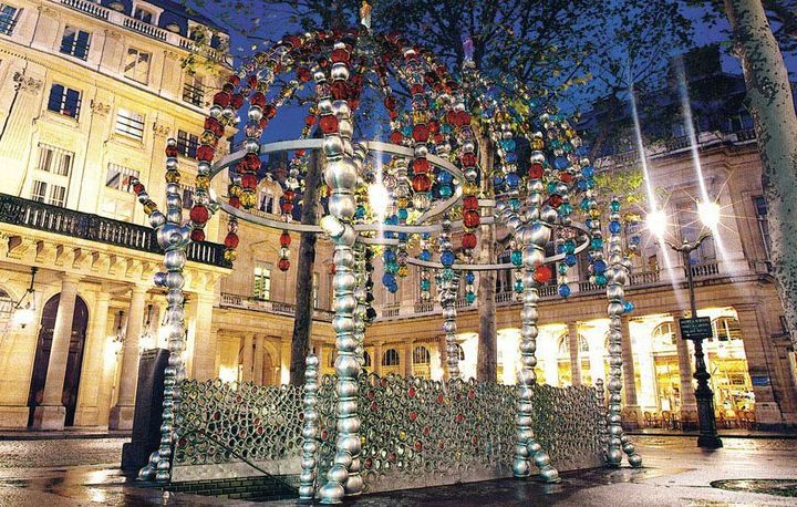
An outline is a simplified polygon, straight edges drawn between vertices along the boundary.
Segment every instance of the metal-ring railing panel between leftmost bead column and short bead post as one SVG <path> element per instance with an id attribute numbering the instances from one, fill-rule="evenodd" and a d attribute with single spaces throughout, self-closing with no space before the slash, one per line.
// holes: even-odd
<path id="1" fill-rule="evenodd" d="M 180 389 L 175 466 L 301 455 L 302 387 L 192 380 Z"/>

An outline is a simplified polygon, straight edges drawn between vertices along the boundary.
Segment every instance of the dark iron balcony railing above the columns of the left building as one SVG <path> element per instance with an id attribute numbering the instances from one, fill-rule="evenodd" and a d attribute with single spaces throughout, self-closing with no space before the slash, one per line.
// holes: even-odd
<path id="1" fill-rule="evenodd" d="M 155 230 L 135 224 L 0 194 L 0 223 L 46 230 L 73 238 L 162 254 Z M 228 268 L 224 245 L 201 241 L 188 246 L 188 260 Z"/>

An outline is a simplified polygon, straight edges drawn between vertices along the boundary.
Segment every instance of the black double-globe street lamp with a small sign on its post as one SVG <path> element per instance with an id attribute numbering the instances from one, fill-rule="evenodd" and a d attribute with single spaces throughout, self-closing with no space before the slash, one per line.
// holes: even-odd
<path id="1" fill-rule="evenodd" d="M 712 231 L 716 230 L 720 224 L 720 206 L 713 201 L 697 203 L 697 215 L 703 225 L 708 230 L 701 231 L 694 242 L 683 239 L 681 245 L 674 245 L 663 239 L 664 229 L 662 224 L 663 213 L 661 210 L 652 211 L 648 215 L 648 228 L 655 234 L 660 241 L 664 242 L 674 251 L 681 254 L 686 269 L 686 284 L 690 293 L 690 319 L 680 319 L 682 339 L 692 340 L 695 346 L 695 373 L 694 379 L 697 380 L 697 389 L 695 390 L 695 399 L 697 400 L 697 424 L 700 426 L 700 436 L 697 437 L 697 446 L 704 448 L 720 448 L 723 446 L 722 439 L 717 435 L 716 420 L 714 418 L 714 393 L 708 386 L 711 374 L 706 369 L 705 358 L 703 354 L 703 340 L 711 337 L 711 320 L 706 322 L 697 318 L 697 303 L 694 294 L 694 280 L 692 278 L 692 266 L 690 262 L 691 254 L 698 249 L 706 238 L 710 238 Z"/>

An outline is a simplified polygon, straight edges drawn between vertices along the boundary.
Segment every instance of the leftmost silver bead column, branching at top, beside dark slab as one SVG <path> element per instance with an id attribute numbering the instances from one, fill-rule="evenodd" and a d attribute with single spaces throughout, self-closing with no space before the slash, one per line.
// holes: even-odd
<path id="1" fill-rule="evenodd" d="M 169 146 L 177 142 L 167 141 Z M 166 158 L 166 168 L 177 169 L 177 157 Z M 139 195 L 143 203 L 145 196 Z M 183 269 L 186 263 L 186 249 L 190 238 L 190 223 L 183 224 L 183 198 L 179 184 L 166 184 L 166 216 L 161 211 L 149 215 L 149 224 L 157 230 L 157 241 L 164 249 L 164 267 L 166 272 L 155 275 L 155 284 L 166 288 L 166 328 L 168 329 L 168 366 L 164 372 L 164 401 L 163 422 L 161 424 L 161 447 L 149 455 L 149 464 L 138 473 L 142 480 L 168 482 L 172 478 L 172 445 L 175 442 L 175 432 L 178 426 L 177 412 L 179 410 L 179 383 L 185 380 L 186 372 L 183 363 L 185 350 L 185 310 L 183 308 L 183 286 L 185 279 Z"/>

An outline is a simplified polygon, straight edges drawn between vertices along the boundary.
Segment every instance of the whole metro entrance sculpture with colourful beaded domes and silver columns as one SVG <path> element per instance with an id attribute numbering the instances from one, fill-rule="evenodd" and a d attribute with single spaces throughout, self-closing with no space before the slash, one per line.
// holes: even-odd
<path id="1" fill-rule="evenodd" d="M 475 72 L 467 68 L 465 71 Z M 311 81 L 315 84 L 314 96 L 306 90 Z M 610 205 L 604 258 L 602 213 L 593 195 L 594 169 L 584 158 L 586 149 L 567 120 L 524 97 L 521 92 L 517 92 L 521 104 L 518 107 L 496 100 L 486 80 L 479 77 L 477 85 L 470 83 L 460 85 L 433 55 L 400 37 L 374 34 L 366 25 L 288 35 L 269 51 L 255 55 L 214 96 L 197 149 L 198 176 L 189 220 L 183 220 L 174 139 L 166 148 L 165 214 L 157 209 L 144 186 L 135 182 L 134 190 L 165 250 L 166 271 L 155 277 L 155 283 L 167 290 L 165 323 L 172 352 L 166 371 L 162 443 L 149 465 L 142 469 L 141 478 L 174 479 L 175 464 L 186 463 L 190 457 L 186 446 L 193 445 L 188 439 L 180 443 L 180 436 L 187 435 L 188 428 L 201 430 L 189 427 L 192 421 L 207 423 L 204 415 L 192 411 L 211 410 L 210 418 L 219 422 L 214 422 L 213 431 L 229 426 L 224 430 L 229 433 L 225 445 L 247 442 L 250 432 L 245 426 L 251 426 L 255 433 L 263 431 L 259 417 L 252 418 L 237 407 L 222 411 L 218 405 L 208 408 L 206 404 L 200 407 L 192 403 L 201 390 L 210 390 L 218 400 L 232 396 L 241 410 L 248 411 L 249 399 L 245 396 L 250 392 L 241 390 L 235 394 L 230 390 L 237 387 L 220 383 L 203 387 L 186 381 L 180 358 L 185 349 L 182 307 L 185 249 L 189 241 L 205 238 L 204 227 L 219 209 L 230 215 L 225 239 L 225 258 L 230 265 L 239 242 L 238 220 L 283 231 L 279 265 L 283 270 L 290 268 L 289 231 L 323 235 L 334 245 L 335 375 L 318 379 L 314 368 L 318 360 L 308 358 L 301 446 L 293 446 L 296 441 L 286 437 L 286 443 L 293 446 L 289 448 L 296 459 L 301 462 L 302 498 L 319 496 L 322 503 L 340 503 L 344 496 L 364 489 L 390 488 L 391 485 L 379 480 L 385 474 L 393 474 L 391 477 L 403 474 L 406 480 L 396 484 L 417 487 L 423 485 L 421 476 L 414 475 L 418 469 L 438 473 L 442 482 L 489 478 L 504 468 L 507 473 L 511 469 L 516 477 L 528 477 L 534 462 L 544 479 L 559 480 L 556 464 L 548 454 L 550 449 L 542 445 L 545 442 L 535 427 L 550 428 L 550 435 L 542 439 L 570 454 L 583 453 L 589 457 L 600 444 L 603 448 L 599 453 L 605 464 L 618 466 L 624 451 L 631 465 L 641 465 L 620 426 L 620 319 L 632 306 L 624 300 L 622 289 L 630 263 L 622 248 L 619 203 L 612 200 Z M 407 99 L 398 99 L 395 90 L 401 89 L 410 92 Z M 384 104 L 390 142 L 355 138 L 355 132 L 370 126 L 358 128 L 356 118 L 364 113 L 375 114 L 372 110 L 361 111 L 361 103 L 374 96 Z M 261 144 L 263 130 L 278 122 L 280 107 L 292 99 L 312 103 L 301 136 Z M 474 112 L 478 112 L 478 118 Z M 218 157 L 218 141 L 235 124 L 237 114 L 247 117 L 241 128 L 246 139 L 239 151 Z M 323 135 L 320 139 L 309 138 L 315 126 Z M 476 130 L 497 145 L 498 167 L 478 167 Z M 529 153 L 522 164 L 518 162 L 520 143 Z M 323 155 L 328 196 L 324 216 L 318 225 L 291 221 L 293 207 L 301 198 L 302 172 L 311 170 L 303 162 L 308 151 Z M 262 176 L 260 157 L 276 152 L 293 154 L 290 172 L 282 182 L 281 220 L 249 213 L 256 205 Z M 225 169 L 230 175 L 228 196 L 213 197 L 210 182 Z M 494 195 L 479 195 L 484 178 L 491 178 Z M 578 197 L 580 211 L 571 204 Z M 583 224 L 573 221 L 579 214 L 586 218 Z M 511 237 L 509 263 L 474 261 L 478 227 L 490 223 L 506 227 Z M 435 242 L 438 256 L 431 251 Z M 632 239 L 629 246 L 633 247 Z M 417 251 L 416 257 L 411 255 L 413 250 Z M 602 387 L 596 393 L 583 387 L 568 391 L 538 386 L 534 373 L 538 289 L 556 276 L 559 293 L 567 297 L 566 273 L 582 251 L 588 254 L 594 283 L 605 286 L 609 298 L 608 415 L 598 404 Z M 365 327 L 375 314 L 371 308 L 372 260 L 379 252 L 384 265 L 382 282 L 390 291 L 397 289 L 398 280 L 410 271 L 408 266 L 416 266 L 420 271 L 423 298 L 431 297 L 435 279 L 446 334 L 446 381 L 393 375 L 382 379 L 362 372 Z M 556 275 L 551 263 L 556 265 Z M 466 292 L 473 294 L 477 272 L 503 269 L 515 270 L 516 291 L 522 301 L 521 369 L 517 384 L 510 387 L 463 382 L 457 366 L 454 304 L 458 286 L 464 282 Z M 263 392 L 252 391 L 251 400 Z M 186 397 L 186 393 L 194 397 Z M 293 406 L 286 407 L 280 416 L 296 417 L 291 424 L 299 427 L 297 397 L 284 399 Z M 391 416 L 400 418 L 380 413 L 380 403 L 391 404 Z M 541 417 L 540 406 L 546 404 L 548 412 Z M 238 432 L 221 424 L 225 414 L 232 413 L 242 417 L 235 421 Z M 327 426 L 330 421 L 332 424 Z M 562 428 L 568 432 L 557 433 Z M 446 441 L 452 445 L 464 444 L 449 451 Z M 257 443 L 252 441 L 251 445 Z M 571 459 L 582 466 L 589 462 L 560 454 L 563 452 L 557 457 L 562 462 Z M 195 461 L 206 463 L 203 459 Z M 452 467 L 456 476 L 451 475 Z M 215 473 L 211 467 L 203 470 Z"/>

